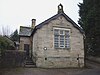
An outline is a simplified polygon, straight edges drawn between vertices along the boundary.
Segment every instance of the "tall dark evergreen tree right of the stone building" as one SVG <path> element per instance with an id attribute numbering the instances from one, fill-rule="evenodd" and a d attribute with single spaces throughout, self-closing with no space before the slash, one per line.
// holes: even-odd
<path id="1" fill-rule="evenodd" d="M 100 54 L 100 0 L 83 0 L 79 3 L 78 23 L 86 35 L 85 46 L 90 54 Z"/>

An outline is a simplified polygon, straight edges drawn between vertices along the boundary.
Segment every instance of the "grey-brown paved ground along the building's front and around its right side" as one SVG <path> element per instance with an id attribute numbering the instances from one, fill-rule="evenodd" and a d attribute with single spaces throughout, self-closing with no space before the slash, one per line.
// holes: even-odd
<path id="1" fill-rule="evenodd" d="M 0 70 L 0 75 L 100 75 L 100 64 L 87 61 L 84 69 L 12 68 Z"/>

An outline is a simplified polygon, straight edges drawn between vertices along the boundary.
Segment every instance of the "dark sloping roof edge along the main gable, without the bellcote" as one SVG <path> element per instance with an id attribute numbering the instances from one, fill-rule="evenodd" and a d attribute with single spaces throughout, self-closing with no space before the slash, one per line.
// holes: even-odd
<path id="1" fill-rule="evenodd" d="M 51 18 L 45 20 L 44 22 L 40 23 L 39 25 L 37 25 L 35 27 L 35 29 L 40 29 L 42 26 L 46 25 L 47 23 L 49 23 L 50 21 L 57 19 L 59 16 L 64 16 L 66 18 L 67 21 L 69 21 L 70 23 L 72 23 L 72 25 L 77 28 L 82 34 L 84 34 L 84 31 L 82 28 L 80 28 L 71 18 L 69 18 L 64 12 L 60 12 L 54 16 L 52 16 Z"/>

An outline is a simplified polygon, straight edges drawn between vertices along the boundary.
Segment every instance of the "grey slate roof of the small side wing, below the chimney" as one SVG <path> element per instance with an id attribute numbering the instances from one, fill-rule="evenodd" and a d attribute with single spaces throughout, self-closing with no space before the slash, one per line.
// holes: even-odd
<path id="1" fill-rule="evenodd" d="M 32 28 L 20 26 L 19 36 L 31 36 Z"/>

